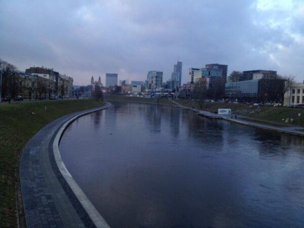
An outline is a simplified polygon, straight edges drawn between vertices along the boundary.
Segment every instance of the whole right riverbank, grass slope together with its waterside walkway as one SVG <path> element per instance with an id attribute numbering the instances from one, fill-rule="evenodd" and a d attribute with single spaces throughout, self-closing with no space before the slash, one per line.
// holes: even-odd
<path id="1" fill-rule="evenodd" d="M 158 102 L 158 99 L 156 98 L 126 97 L 119 95 L 105 96 L 105 99 L 155 104 Z M 235 103 L 204 102 L 202 105 L 203 108 L 200 109 L 199 102 L 195 100 L 172 100 L 166 98 L 160 99 L 159 103 L 187 108 L 198 113 L 201 112 L 202 116 L 210 118 L 212 117 L 212 119 L 224 119 L 226 121 L 261 128 L 264 130 L 304 136 L 304 110 L 299 108 L 260 107 Z M 230 108 L 233 116 L 237 115 L 238 119 L 232 119 L 231 116 L 225 117 L 215 114 L 214 112 L 217 111 L 218 108 Z M 302 119 L 298 120 L 298 113 L 301 113 Z"/>

